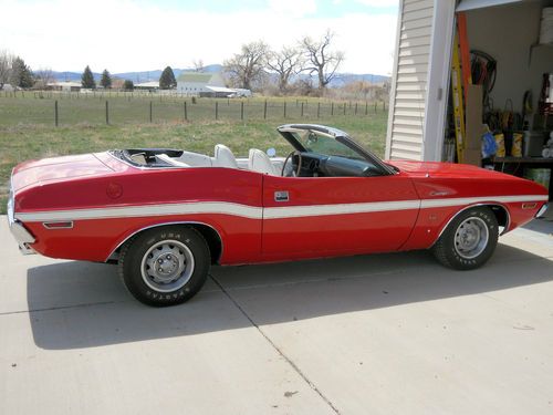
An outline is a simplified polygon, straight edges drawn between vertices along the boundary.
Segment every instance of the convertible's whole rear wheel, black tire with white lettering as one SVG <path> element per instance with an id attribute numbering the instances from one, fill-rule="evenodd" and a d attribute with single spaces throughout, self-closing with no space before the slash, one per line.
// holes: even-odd
<path id="1" fill-rule="evenodd" d="M 167 226 L 146 230 L 127 242 L 119 255 L 118 272 L 138 301 L 167 307 L 191 299 L 206 282 L 210 263 L 209 247 L 196 229 Z"/>

